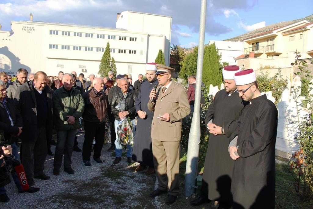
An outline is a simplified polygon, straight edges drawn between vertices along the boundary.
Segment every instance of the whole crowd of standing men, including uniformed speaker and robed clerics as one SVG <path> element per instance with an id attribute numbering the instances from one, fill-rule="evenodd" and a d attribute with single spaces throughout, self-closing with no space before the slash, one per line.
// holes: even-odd
<path id="1" fill-rule="evenodd" d="M 64 172 L 74 174 L 73 150 L 82 152 L 85 167 L 92 166 L 92 150 L 93 163 L 102 164 L 101 150 L 105 136 L 110 135 L 108 151 L 115 151 L 113 164 L 120 163 L 126 149 L 127 162 L 139 163 L 136 172 L 147 169 L 147 175 L 156 173 L 158 187 L 150 196 L 167 193 L 166 204 L 174 203 L 179 192 L 182 119 L 193 112 L 197 81 L 190 76 L 187 90 L 172 80 L 173 71 L 147 63 L 146 81 L 140 74 L 134 86 L 127 74 L 114 80 L 113 71 L 104 78 L 90 74 L 85 81 L 84 74 L 77 77 L 75 71 L 60 71 L 54 77 L 18 69 L 14 82 L 1 72 L 0 130 L 7 146 L 2 146 L 0 163 L 8 154 L 20 160 L 30 186 L 26 192 L 37 192 L 34 179 L 50 179 L 44 173 L 47 154 L 54 155 L 53 175 L 60 174 L 63 155 Z M 202 190 L 191 204 L 214 200 L 220 209 L 274 208 L 277 109 L 260 94 L 252 69 L 226 66 L 223 80 L 225 89 L 218 91 L 206 114 L 210 137 Z M 125 102 L 123 111 L 117 108 L 121 102 Z M 124 147 L 117 132 L 119 121 L 126 117 L 132 125 L 134 145 Z M 78 132 L 85 132 L 82 150 Z M 51 144 L 56 145 L 54 153 Z M 25 192 L 14 173 L 12 177 L 18 192 Z M 4 185 L 0 185 L 3 202 L 9 201 Z"/>

